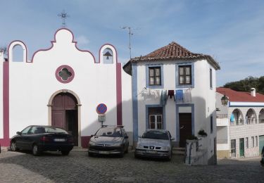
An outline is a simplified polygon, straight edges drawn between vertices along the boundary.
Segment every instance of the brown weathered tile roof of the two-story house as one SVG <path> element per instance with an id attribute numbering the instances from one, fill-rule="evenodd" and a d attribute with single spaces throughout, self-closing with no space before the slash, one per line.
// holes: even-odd
<path id="1" fill-rule="evenodd" d="M 171 42 L 167 46 L 163 46 L 161 49 L 157 49 L 146 56 L 131 58 L 130 61 L 133 63 L 140 61 L 194 60 L 199 58 L 206 58 L 216 69 L 220 69 L 218 63 L 211 56 L 192 53 L 176 42 Z"/>

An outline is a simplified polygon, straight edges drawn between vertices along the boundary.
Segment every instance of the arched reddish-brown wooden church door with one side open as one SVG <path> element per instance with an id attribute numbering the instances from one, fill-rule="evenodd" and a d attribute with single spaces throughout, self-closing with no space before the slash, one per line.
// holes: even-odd
<path id="1" fill-rule="evenodd" d="M 75 146 L 78 146 L 77 99 L 73 94 L 60 93 L 54 96 L 51 106 L 51 125 L 61 127 L 73 134 Z"/>

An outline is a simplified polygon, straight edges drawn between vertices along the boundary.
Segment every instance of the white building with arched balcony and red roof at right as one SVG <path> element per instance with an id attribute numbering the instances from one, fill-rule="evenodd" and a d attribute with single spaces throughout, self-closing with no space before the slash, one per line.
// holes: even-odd
<path id="1" fill-rule="evenodd" d="M 221 98 L 229 102 L 223 106 Z M 216 89 L 218 157 L 259 156 L 264 146 L 264 95 Z"/>

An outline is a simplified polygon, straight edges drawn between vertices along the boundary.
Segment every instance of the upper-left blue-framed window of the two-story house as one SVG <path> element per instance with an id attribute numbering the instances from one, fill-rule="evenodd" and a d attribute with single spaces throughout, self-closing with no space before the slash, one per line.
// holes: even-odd
<path id="1" fill-rule="evenodd" d="M 146 87 L 163 89 L 163 64 L 146 65 Z"/>

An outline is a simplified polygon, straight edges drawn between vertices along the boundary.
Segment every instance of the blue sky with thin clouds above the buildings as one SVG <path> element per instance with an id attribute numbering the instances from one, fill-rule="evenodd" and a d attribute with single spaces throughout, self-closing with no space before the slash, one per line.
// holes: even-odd
<path id="1" fill-rule="evenodd" d="M 217 85 L 264 75 L 264 1 L 252 0 L 0 0 L 0 46 L 25 42 L 29 56 L 48 48 L 65 9 L 67 28 L 80 49 L 96 59 L 101 45 L 118 50 L 120 62 L 130 58 L 128 30 L 132 27 L 132 57 L 144 56 L 174 41 L 220 63 Z"/>

